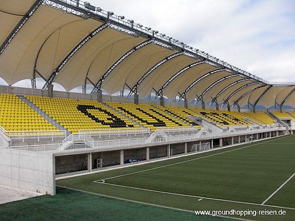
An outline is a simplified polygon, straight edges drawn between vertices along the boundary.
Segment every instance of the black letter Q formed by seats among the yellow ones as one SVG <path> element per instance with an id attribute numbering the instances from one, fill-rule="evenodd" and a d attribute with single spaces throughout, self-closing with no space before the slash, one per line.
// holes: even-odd
<path id="1" fill-rule="evenodd" d="M 109 125 L 110 127 L 127 127 L 126 122 L 115 116 L 113 113 L 104 110 L 102 108 L 97 108 L 93 105 L 78 105 L 77 106 L 78 111 L 81 111 L 85 115 L 87 115 L 89 118 L 94 120 L 96 123 L 101 123 L 102 125 Z M 112 122 L 105 122 L 104 120 L 99 119 L 98 117 L 92 115 L 89 113 L 88 110 L 98 110 L 101 111 L 105 114 L 107 114 L 109 117 L 107 118 L 108 120 Z M 132 127 L 133 125 L 128 125 L 129 127 Z"/>

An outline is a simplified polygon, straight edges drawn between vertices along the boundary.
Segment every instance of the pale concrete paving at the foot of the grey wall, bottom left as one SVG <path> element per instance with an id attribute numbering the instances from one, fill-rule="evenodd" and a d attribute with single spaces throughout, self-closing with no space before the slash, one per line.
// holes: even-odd
<path id="1" fill-rule="evenodd" d="M 27 199 L 39 195 L 43 195 L 43 193 L 35 193 L 12 187 L 0 186 L 0 204 Z"/>

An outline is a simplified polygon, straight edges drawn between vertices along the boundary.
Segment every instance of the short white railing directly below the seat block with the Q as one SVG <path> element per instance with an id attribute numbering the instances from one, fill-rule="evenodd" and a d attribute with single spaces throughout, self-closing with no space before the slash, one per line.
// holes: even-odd
<path id="1" fill-rule="evenodd" d="M 136 134 L 150 134 L 147 128 L 138 129 L 112 129 L 112 130 L 79 130 L 79 134 L 87 134 L 89 136 L 111 136 L 111 135 L 136 135 Z"/>

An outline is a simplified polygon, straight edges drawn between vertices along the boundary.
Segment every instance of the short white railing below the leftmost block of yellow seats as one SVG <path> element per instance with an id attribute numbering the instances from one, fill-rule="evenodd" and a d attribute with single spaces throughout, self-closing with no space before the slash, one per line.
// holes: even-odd
<path id="1" fill-rule="evenodd" d="M 6 131 L 6 136 L 10 139 L 32 139 L 37 138 L 65 138 L 66 131 Z"/>

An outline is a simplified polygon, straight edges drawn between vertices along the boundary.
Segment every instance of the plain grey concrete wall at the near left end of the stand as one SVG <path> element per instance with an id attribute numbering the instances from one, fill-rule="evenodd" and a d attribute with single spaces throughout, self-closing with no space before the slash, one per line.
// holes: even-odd
<path id="1" fill-rule="evenodd" d="M 55 195 L 54 165 L 50 153 L 0 148 L 0 185 Z"/>

